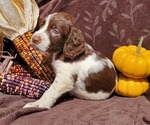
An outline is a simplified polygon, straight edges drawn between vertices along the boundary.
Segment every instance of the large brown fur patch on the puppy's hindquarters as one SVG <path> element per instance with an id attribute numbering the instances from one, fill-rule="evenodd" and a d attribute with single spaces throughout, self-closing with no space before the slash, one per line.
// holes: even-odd
<path id="1" fill-rule="evenodd" d="M 109 67 L 105 67 L 98 73 L 91 73 L 86 78 L 86 90 L 88 92 L 98 92 L 103 90 L 104 92 L 111 92 L 116 84 L 116 72 Z"/>

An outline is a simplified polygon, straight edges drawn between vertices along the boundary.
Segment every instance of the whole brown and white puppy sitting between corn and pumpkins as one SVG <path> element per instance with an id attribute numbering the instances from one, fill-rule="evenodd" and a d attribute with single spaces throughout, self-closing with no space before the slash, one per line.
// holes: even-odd
<path id="1" fill-rule="evenodd" d="M 114 65 L 85 42 L 71 15 L 50 14 L 33 34 L 31 43 L 40 51 L 54 54 L 52 66 L 56 78 L 39 100 L 26 104 L 25 108 L 50 109 L 68 91 L 89 100 L 106 99 L 112 94 L 117 82 Z"/>

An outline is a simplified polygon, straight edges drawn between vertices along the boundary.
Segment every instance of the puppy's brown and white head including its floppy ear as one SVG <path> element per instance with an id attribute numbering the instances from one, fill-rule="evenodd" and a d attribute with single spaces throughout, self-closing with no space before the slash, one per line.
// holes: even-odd
<path id="1" fill-rule="evenodd" d="M 44 52 L 63 52 L 71 59 L 85 50 L 82 32 L 75 26 L 73 17 L 64 12 L 50 14 L 33 34 L 31 44 Z"/>

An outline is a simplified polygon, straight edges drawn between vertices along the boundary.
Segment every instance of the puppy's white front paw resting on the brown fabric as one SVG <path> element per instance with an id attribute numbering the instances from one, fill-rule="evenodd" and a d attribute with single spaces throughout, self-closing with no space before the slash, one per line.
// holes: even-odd
<path id="1" fill-rule="evenodd" d="M 44 101 L 38 100 L 36 102 L 27 103 L 23 108 L 31 108 L 31 107 L 37 107 L 37 108 L 47 108 L 50 109 L 50 105 Z"/>

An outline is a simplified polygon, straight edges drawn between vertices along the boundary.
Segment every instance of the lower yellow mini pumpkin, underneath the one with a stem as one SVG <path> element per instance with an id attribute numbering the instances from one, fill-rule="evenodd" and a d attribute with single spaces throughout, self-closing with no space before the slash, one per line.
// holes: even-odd
<path id="1" fill-rule="evenodd" d="M 126 97 L 136 97 L 142 95 L 149 87 L 148 79 L 134 79 L 126 77 L 123 74 L 119 75 L 119 80 L 115 88 L 118 95 Z"/>

